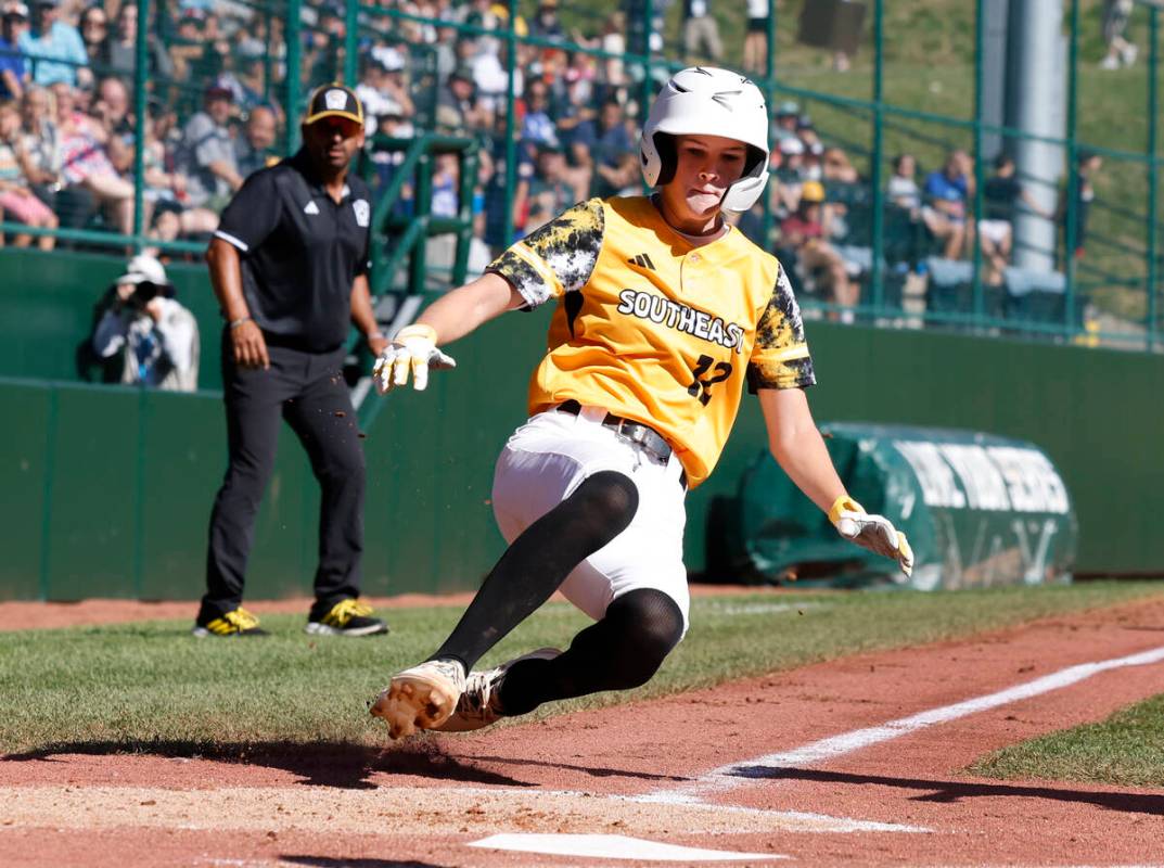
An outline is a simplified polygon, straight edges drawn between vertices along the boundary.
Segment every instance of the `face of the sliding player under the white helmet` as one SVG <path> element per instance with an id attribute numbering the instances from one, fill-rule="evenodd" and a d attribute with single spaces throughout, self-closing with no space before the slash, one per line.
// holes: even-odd
<path id="1" fill-rule="evenodd" d="M 667 221 L 698 235 L 716 227 L 728 187 L 744 175 L 747 148 L 724 136 L 676 136 L 675 177 L 662 188 Z"/>

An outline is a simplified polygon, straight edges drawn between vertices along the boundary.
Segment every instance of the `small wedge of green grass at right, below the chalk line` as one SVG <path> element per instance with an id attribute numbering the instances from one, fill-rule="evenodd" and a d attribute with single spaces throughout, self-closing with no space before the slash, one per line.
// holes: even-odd
<path id="1" fill-rule="evenodd" d="M 1164 693 L 1113 714 L 1003 748 L 970 768 L 982 777 L 1164 787 Z"/>

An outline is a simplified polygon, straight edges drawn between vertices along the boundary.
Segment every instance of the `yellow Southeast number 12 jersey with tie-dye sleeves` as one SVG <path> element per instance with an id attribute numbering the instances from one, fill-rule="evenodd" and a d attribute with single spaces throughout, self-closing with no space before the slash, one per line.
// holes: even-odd
<path id="1" fill-rule="evenodd" d="M 816 382 L 783 268 L 734 227 L 695 246 L 648 198 L 590 199 L 488 270 L 530 308 L 558 300 L 531 415 L 574 399 L 648 425 L 693 488 L 719 460 L 745 380 Z"/>

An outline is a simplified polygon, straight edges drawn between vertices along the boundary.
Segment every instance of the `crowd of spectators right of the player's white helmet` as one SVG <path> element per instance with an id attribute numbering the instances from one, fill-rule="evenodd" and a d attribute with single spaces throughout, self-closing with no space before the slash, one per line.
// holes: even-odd
<path id="1" fill-rule="evenodd" d="M 861 303 L 872 264 L 875 197 L 871 179 L 858 171 L 844 148 L 822 140 L 796 102 L 780 104 L 774 119 L 768 215 L 764 202 L 758 202 L 739 218 L 738 226 L 780 256 L 797 290 L 833 305 L 835 315 L 850 320 L 846 308 Z M 982 211 L 975 215 L 975 166 L 970 154 L 950 149 L 941 165 L 929 170 L 913 154 L 899 154 L 886 165 L 882 182 L 885 266 L 895 276 L 913 273 L 924 283 L 929 263 L 968 263 L 980 247 L 984 284 L 1001 286 L 1013 264 L 1014 223 L 1020 213 L 1062 227 L 1066 198 L 1073 194 L 1074 236 L 1085 237 L 1087 207 L 1094 195 L 1090 179 L 1098 164 L 1094 155 L 1081 155 L 1071 177 L 1083 183 L 1073 193 L 1059 191 L 1058 202 L 1048 207 L 1048 197 L 1036 195 L 1034 186 L 1020 179 L 1013 157 L 999 154 L 985 168 Z M 1080 249 L 1077 243 L 1076 256 Z M 958 273 L 965 273 L 965 268 Z"/>

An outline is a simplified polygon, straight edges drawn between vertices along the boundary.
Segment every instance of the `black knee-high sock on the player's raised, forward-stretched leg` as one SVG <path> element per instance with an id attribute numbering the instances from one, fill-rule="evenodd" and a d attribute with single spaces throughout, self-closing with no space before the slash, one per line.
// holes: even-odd
<path id="1" fill-rule="evenodd" d="M 639 506 L 634 483 L 603 470 L 513 540 L 431 660 L 459 660 L 466 670 L 528 618 L 575 567 L 626 529 Z"/>

